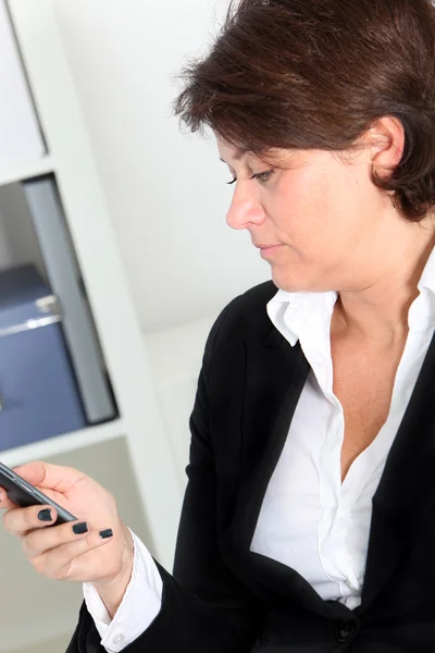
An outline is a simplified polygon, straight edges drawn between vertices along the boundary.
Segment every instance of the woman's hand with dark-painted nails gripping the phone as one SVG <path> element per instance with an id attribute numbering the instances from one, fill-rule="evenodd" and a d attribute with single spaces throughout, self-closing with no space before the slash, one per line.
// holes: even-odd
<path id="1" fill-rule="evenodd" d="M 0 489 L 0 508 L 7 508 L 5 530 L 20 538 L 25 555 L 39 574 L 95 583 L 113 616 L 130 579 L 134 553 L 130 532 L 120 519 L 112 494 L 71 467 L 36 461 L 15 467 L 14 471 L 75 515 L 77 521 L 47 528 L 57 520 L 54 508 L 20 508 Z M 45 509 L 51 512 L 49 521 L 44 520 Z M 76 533 L 74 526 L 78 523 L 75 530 L 87 531 Z"/>

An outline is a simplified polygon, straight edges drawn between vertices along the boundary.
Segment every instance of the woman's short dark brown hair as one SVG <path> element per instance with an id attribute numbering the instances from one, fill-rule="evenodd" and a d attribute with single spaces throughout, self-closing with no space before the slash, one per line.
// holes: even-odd
<path id="1" fill-rule="evenodd" d="M 211 51 L 182 71 L 175 114 L 264 158 L 352 151 L 380 118 L 403 125 L 400 163 L 373 183 L 411 222 L 435 206 L 431 0 L 232 0 Z"/>

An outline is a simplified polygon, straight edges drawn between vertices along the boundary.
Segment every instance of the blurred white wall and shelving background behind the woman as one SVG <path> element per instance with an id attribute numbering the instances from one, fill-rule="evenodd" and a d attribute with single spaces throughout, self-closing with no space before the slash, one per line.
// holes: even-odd
<path id="1" fill-rule="evenodd" d="M 212 136 L 171 112 L 227 7 L 0 3 L 0 460 L 83 469 L 167 567 L 207 335 L 271 278 Z M 0 547 L 0 652 L 64 651 L 82 587 Z"/>

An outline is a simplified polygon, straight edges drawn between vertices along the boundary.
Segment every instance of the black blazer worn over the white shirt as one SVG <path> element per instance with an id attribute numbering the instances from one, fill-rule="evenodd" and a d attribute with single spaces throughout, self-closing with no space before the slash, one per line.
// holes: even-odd
<path id="1" fill-rule="evenodd" d="M 174 572 L 132 653 L 435 651 L 435 337 L 373 498 L 362 603 L 323 601 L 249 551 L 310 366 L 273 326 L 266 282 L 233 299 L 207 341 L 190 416 Z M 67 653 L 102 653 L 85 603 Z"/>

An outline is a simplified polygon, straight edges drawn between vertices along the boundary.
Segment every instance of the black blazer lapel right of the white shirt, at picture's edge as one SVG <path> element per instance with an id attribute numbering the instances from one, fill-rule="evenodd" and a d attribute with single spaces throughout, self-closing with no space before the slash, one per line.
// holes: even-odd
<path id="1" fill-rule="evenodd" d="M 418 526 L 434 518 L 435 504 L 435 334 L 389 452 L 373 514 L 360 614 L 374 602 L 412 546 Z"/>

